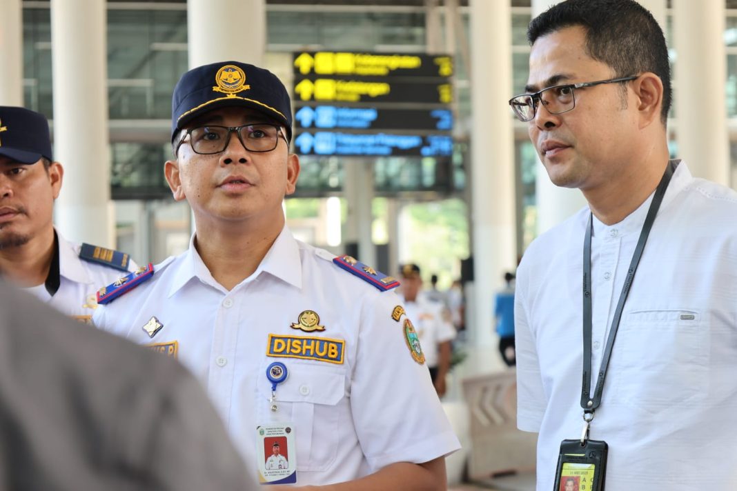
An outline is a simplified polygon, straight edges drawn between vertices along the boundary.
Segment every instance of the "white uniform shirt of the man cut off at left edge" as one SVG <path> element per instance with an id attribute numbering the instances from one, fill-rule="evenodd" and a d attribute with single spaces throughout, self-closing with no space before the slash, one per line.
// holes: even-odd
<path id="1" fill-rule="evenodd" d="M 58 230 L 56 234 L 59 241 L 59 289 L 53 296 L 46 291 L 43 283 L 25 290 L 62 314 L 88 322 L 97 308 L 97 290 L 127 273 L 111 266 L 84 261 L 80 258 L 80 244 L 66 241 Z M 136 267 L 136 263 L 129 261 L 129 271 Z"/>

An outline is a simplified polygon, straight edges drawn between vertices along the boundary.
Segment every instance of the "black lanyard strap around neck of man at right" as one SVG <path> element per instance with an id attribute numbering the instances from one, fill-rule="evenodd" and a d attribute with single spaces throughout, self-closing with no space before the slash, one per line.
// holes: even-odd
<path id="1" fill-rule="evenodd" d="M 671 160 L 668 162 L 666 172 L 663 174 L 663 178 L 660 180 L 660 184 L 655 189 L 655 194 L 650 203 L 650 208 L 645 218 L 642 231 L 640 232 L 640 239 L 638 239 L 638 245 L 635 247 L 635 253 L 632 255 L 632 261 L 629 263 L 629 269 L 627 270 L 627 276 L 624 279 L 624 285 L 622 286 L 622 293 L 619 295 L 619 302 L 617 303 L 617 309 L 614 311 L 614 318 L 612 319 L 612 328 L 609 329 L 609 337 L 607 337 L 607 345 L 604 347 L 604 356 L 601 358 L 601 367 L 598 372 L 598 379 L 596 381 L 596 387 L 594 389 L 594 395 L 591 397 L 591 331 L 592 331 L 592 320 L 591 320 L 591 233 L 593 230 L 593 214 L 589 215 L 589 225 L 586 229 L 586 238 L 584 239 L 584 376 L 581 387 L 581 407 L 584 409 L 584 415 L 588 416 L 587 419 L 593 417 L 593 412 L 601 404 L 601 392 L 604 392 L 604 376 L 607 375 L 607 367 L 609 366 L 609 358 L 612 356 L 612 347 L 614 346 L 614 339 L 617 336 L 617 329 L 619 328 L 619 320 L 622 317 L 622 310 L 624 309 L 624 303 L 627 300 L 629 289 L 632 286 L 632 280 L 635 278 L 635 271 L 638 269 L 640 264 L 640 258 L 643 255 L 643 249 L 645 249 L 645 242 L 652 229 L 652 224 L 655 221 L 655 215 L 657 210 L 660 208 L 660 203 L 663 202 L 663 196 L 666 194 L 666 188 L 668 183 L 671 181 L 673 171 L 677 166 L 677 162 Z"/>

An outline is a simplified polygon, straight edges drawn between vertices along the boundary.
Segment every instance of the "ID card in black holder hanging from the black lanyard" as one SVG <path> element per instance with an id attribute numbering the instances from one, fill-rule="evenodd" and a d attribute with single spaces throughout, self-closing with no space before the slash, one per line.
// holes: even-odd
<path id="1" fill-rule="evenodd" d="M 563 440 L 553 491 L 604 491 L 607 442 Z"/>

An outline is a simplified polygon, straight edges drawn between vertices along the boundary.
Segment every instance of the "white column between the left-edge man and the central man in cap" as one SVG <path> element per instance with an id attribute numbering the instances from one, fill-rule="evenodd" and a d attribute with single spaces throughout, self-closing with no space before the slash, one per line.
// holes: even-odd
<path id="1" fill-rule="evenodd" d="M 64 167 L 56 223 L 70 240 L 115 247 L 106 29 L 104 0 L 52 0 L 54 158 Z"/>

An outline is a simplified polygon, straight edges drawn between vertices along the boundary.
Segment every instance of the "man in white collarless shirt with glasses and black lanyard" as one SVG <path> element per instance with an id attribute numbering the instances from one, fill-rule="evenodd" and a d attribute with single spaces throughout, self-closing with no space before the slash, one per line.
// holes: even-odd
<path id="1" fill-rule="evenodd" d="M 537 489 L 606 442 L 607 491 L 736 490 L 737 193 L 668 160 L 663 32 L 635 1 L 569 0 L 528 40 L 528 94 L 510 104 L 553 183 L 588 202 L 517 272 L 517 425 L 539 433 Z M 559 466 L 564 439 L 580 455 Z"/>

